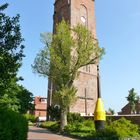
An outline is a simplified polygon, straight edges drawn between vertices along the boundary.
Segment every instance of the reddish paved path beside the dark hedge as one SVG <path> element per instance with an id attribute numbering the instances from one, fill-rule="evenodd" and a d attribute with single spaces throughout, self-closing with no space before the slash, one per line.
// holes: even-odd
<path id="1" fill-rule="evenodd" d="M 38 127 L 29 127 L 28 140 L 74 140 Z M 76 140 L 76 139 L 75 139 Z"/>

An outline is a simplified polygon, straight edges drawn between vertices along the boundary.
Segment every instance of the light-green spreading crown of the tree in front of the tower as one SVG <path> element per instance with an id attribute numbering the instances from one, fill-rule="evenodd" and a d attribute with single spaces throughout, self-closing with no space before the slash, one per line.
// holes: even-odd
<path id="1" fill-rule="evenodd" d="M 69 93 L 68 89 L 71 90 L 74 79 L 79 75 L 78 70 L 88 64 L 97 64 L 104 53 L 92 33 L 80 24 L 71 28 L 62 20 L 57 25 L 55 34 L 47 33 L 42 36 L 45 47 L 37 54 L 32 67 L 40 75 L 48 76 L 59 94 L 64 92 L 64 88 Z M 60 107 L 63 108 L 63 105 Z"/>

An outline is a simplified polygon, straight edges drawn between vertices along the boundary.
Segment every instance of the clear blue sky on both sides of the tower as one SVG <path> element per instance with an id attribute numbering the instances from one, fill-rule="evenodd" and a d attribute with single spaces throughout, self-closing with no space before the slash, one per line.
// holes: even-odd
<path id="1" fill-rule="evenodd" d="M 40 33 L 51 32 L 54 0 L 0 0 L 9 3 L 9 16 L 20 14 L 21 32 L 26 46 L 19 75 L 34 95 L 46 96 L 47 79 L 34 74 L 34 58 L 43 44 Z M 128 90 L 140 95 L 140 0 L 96 0 L 96 31 L 106 54 L 100 63 L 101 91 L 105 108 L 116 112 L 127 103 Z"/>

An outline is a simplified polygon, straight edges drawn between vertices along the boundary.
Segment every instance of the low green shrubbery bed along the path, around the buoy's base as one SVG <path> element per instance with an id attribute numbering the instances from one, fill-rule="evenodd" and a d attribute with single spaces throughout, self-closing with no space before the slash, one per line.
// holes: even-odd
<path id="1" fill-rule="evenodd" d="M 74 117 L 75 118 L 75 117 Z M 71 119 L 74 120 L 74 119 Z M 64 134 L 78 137 L 84 140 L 125 140 L 129 139 L 139 139 L 140 133 L 138 130 L 138 125 L 132 124 L 129 120 L 121 118 L 119 120 L 113 121 L 112 123 L 106 123 L 105 129 L 101 131 L 96 131 L 93 120 L 82 120 L 78 122 L 79 118 L 74 121 L 70 121 L 64 128 Z M 54 131 L 55 127 L 58 126 L 58 122 L 45 122 L 43 127 L 49 128 Z M 57 129 L 55 131 L 59 131 Z"/>

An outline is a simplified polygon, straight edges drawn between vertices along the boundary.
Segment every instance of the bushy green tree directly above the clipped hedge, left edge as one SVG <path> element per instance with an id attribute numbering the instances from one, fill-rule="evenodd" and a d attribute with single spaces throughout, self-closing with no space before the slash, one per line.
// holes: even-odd
<path id="1" fill-rule="evenodd" d="M 10 84 L 10 87 L 5 91 L 5 94 L 0 98 L 0 107 L 12 109 L 22 114 L 28 110 L 33 110 L 32 104 L 33 94 L 23 86 L 15 82 Z"/>

